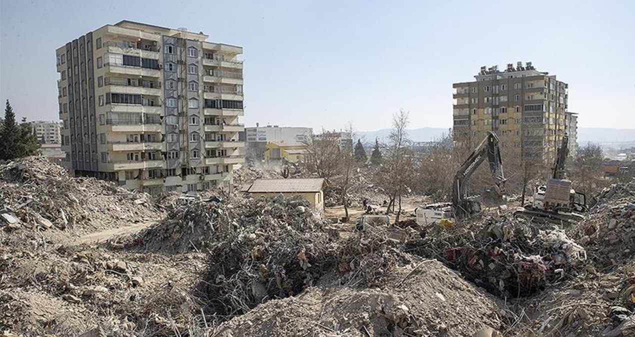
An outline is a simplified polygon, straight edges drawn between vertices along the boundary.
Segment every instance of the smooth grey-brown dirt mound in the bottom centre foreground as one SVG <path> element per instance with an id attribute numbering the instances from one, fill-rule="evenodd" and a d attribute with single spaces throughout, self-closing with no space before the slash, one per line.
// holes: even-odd
<path id="1" fill-rule="evenodd" d="M 469 336 L 500 326 L 497 303 L 438 261 L 398 267 L 382 287 L 310 287 L 225 322 L 215 336 Z"/>

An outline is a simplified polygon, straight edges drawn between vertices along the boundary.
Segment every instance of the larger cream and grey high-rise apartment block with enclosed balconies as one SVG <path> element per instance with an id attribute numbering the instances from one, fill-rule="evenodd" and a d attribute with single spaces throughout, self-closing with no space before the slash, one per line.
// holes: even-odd
<path id="1" fill-rule="evenodd" d="M 151 194 L 231 188 L 243 48 L 207 39 L 124 20 L 58 48 L 67 168 Z"/>

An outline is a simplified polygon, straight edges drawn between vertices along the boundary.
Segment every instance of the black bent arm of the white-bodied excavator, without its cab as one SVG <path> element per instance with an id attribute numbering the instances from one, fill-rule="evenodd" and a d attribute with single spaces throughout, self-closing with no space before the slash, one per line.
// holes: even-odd
<path id="1" fill-rule="evenodd" d="M 505 176 L 503 175 L 499 142 L 498 136 L 493 132 L 489 132 L 483 142 L 467 157 L 467 160 L 460 166 L 454 176 L 452 207 L 457 220 L 481 211 L 481 205 L 478 201 L 468 199 L 465 192 L 465 182 L 486 158 L 490 162 L 491 176 L 496 184 L 498 194 L 505 194 Z"/>

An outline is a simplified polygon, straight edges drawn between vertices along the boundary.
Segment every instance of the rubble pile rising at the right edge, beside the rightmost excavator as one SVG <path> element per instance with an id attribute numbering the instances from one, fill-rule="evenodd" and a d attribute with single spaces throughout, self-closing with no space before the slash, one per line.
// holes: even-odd
<path id="1" fill-rule="evenodd" d="M 603 190 L 587 220 L 574 231 L 601 267 L 632 260 L 635 254 L 635 183 Z"/>

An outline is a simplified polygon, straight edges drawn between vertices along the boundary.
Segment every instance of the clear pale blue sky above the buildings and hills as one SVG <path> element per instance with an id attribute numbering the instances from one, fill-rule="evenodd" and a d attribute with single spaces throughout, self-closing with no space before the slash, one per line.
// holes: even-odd
<path id="1" fill-rule="evenodd" d="M 246 125 L 450 127 L 452 83 L 531 61 L 578 126 L 635 128 L 635 1 L 0 1 L 0 98 L 57 119 L 55 49 L 120 20 L 244 47 Z"/>

